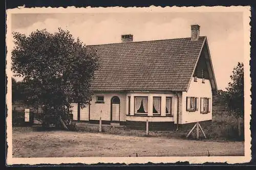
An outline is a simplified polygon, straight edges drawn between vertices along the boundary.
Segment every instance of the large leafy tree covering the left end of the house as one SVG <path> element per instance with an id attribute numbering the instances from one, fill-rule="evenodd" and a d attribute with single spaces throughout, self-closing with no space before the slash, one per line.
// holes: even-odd
<path id="1" fill-rule="evenodd" d="M 23 77 L 25 104 L 42 106 L 47 125 L 58 124 L 70 113 L 70 103 L 85 106 L 91 98 L 91 82 L 98 68 L 95 50 L 88 49 L 69 31 L 51 34 L 36 30 L 29 36 L 13 33 L 12 70 Z M 44 124 L 46 125 L 46 124 Z"/>

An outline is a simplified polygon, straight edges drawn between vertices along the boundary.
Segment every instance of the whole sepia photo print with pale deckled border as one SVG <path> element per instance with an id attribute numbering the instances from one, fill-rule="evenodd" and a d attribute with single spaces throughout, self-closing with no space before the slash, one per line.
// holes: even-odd
<path id="1" fill-rule="evenodd" d="M 249 17 L 7 10 L 7 163 L 250 161 Z"/>

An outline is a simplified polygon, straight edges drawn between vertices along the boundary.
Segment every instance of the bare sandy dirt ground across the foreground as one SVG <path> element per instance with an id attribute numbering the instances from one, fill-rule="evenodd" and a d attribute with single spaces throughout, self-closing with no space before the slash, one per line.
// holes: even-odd
<path id="1" fill-rule="evenodd" d="M 242 156 L 244 142 L 13 130 L 13 157 Z"/>

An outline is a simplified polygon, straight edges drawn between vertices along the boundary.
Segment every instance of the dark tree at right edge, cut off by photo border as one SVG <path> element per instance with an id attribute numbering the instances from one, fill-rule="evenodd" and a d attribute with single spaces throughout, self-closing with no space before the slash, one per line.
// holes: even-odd
<path id="1" fill-rule="evenodd" d="M 244 64 L 238 63 L 230 76 L 226 92 L 223 93 L 228 108 L 237 113 L 238 116 L 244 115 Z"/>

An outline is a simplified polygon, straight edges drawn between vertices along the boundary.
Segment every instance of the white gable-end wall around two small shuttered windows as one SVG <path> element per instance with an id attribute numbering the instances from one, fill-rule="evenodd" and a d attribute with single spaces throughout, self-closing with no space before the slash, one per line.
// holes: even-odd
<path id="1" fill-rule="evenodd" d="M 186 97 L 197 97 L 199 99 L 198 110 L 194 112 L 186 111 Z M 207 114 L 200 113 L 200 98 L 210 98 L 209 100 L 209 109 L 210 112 Z M 182 92 L 182 112 L 180 124 L 188 124 L 194 122 L 200 122 L 204 120 L 212 119 L 212 92 L 211 85 L 209 80 L 205 80 L 205 83 L 202 83 L 202 79 L 197 78 L 197 82 L 194 79 L 191 80 L 189 84 L 188 91 Z"/>

